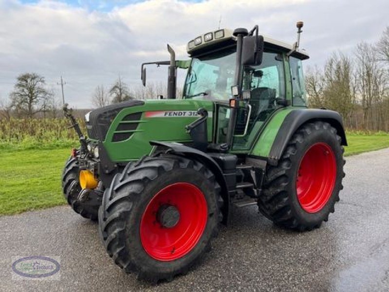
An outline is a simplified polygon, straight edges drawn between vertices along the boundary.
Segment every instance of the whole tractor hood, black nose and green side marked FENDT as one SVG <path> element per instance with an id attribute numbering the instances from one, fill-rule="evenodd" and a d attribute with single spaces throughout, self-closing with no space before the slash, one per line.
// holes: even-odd
<path id="1" fill-rule="evenodd" d="M 212 100 L 152 99 L 130 100 L 93 110 L 86 116 L 88 137 L 99 140 L 114 163 L 138 160 L 150 155 L 150 141 L 191 143 L 186 126 L 208 111 L 208 141 L 212 141 Z"/>

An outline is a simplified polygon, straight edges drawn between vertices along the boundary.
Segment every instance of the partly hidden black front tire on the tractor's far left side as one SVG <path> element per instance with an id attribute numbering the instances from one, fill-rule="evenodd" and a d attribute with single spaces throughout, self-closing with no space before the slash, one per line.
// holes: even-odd
<path id="1" fill-rule="evenodd" d="M 97 221 L 98 219 L 98 206 L 90 206 L 88 204 L 77 201 L 77 196 L 81 191 L 79 183 L 79 167 L 78 162 L 74 157 L 70 157 L 62 172 L 62 191 L 64 197 L 71 208 L 77 214 L 82 217 Z"/>

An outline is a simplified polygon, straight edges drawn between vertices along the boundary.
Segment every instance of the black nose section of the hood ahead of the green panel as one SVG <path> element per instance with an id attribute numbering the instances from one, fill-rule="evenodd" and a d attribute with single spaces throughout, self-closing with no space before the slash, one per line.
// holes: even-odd
<path id="1" fill-rule="evenodd" d="M 112 121 L 121 110 L 143 104 L 144 101 L 141 100 L 129 100 L 90 111 L 85 117 L 88 137 L 104 141 Z"/>

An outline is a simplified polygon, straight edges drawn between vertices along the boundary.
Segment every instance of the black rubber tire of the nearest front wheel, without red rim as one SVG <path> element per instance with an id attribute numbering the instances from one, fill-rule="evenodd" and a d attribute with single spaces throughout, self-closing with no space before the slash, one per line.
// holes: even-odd
<path id="1" fill-rule="evenodd" d="M 201 190 L 207 204 L 207 222 L 201 237 L 187 254 L 160 261 L 150 256 L 142 245 L 141 219 L 154 196 L 174 183 L 190 183 Z M 219 194 L 214 175 L 197 161 L 163 154 L 127 164 L 106 189 L 99 210 L 99 232 L 108 255 L 126 273 L 154 283 L 186 274 L 217 236 L 223 204 Z"/>

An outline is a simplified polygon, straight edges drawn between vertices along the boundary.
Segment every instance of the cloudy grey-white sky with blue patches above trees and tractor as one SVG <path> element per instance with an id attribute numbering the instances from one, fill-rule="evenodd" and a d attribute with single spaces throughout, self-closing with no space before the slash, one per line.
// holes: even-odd
<path id="1" fill-rule="evenodd" d="M 72 106 L 89 108 L 97 85 L 118 75 L 139 86 L 142 62 L 167 60 L 166 43 L 186 56 L 186 43 L 221 27 L 251 28 L 289 43 L 303 20 L 305 65 L 322 65 L 334 51 L 352 54 L 389 25 L 389 0 L 0 0 L 0 98 L 20 73 L 36 72 Z M 148 80 L 166 76 L 149 70 Z M 154 78 L 153 78 L 154 77 Z M 163 82 L 165 82 L 165 78 Z"/>

